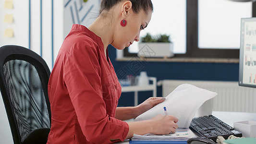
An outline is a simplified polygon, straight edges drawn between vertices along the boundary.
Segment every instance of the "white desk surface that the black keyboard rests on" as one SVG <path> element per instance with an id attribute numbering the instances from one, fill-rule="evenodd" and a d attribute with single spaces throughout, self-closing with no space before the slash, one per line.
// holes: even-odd
<path id="1" fill-rule="evenodd" d="M 212 115 L 233 127 L 233 123 L 237 121 L 253 120 L 256 121 L 256 113 L 247 112 L 228 112 L 213 111 Z M 119 142 L 116 144 L 129 144 L 129 141 Z"/>

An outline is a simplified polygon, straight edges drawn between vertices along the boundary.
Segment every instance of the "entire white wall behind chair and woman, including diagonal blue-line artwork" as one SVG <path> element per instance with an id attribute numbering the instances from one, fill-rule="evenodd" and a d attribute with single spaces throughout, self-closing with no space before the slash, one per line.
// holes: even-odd
<path id="1" fill-rule="evenodd" d="M 12 9 L 4 8 L 5 1 L 0 0 L 0 47 L 19 45 L 30 48 L 42 56 L 52 70 L 72 24 L 89 26 L 98 16 L 101 0 L 11 0 Z M 6 14 L 12 14 L 12 23 L 4 22 Z M 4 36 L 6 28 L 13 29 L 13 37 Z M 13 144 L 2 98 L 0 117 L 1 144 Z"/>

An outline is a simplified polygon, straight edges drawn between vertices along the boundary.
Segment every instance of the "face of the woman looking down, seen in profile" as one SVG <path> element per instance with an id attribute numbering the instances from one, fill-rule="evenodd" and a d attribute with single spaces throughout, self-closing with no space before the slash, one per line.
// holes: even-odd
<path id="1" fill-rule="evenodd" d="M 125 18 L 126 26 L 122 27 L 119 22 L 118 29 L 114 34 L 111 45 L 117 49 L 124 49 L 133 44 L 134 41 L 139 41 L 140 31 L 145 29 L 150 22 L 152 12 L 145 13 L 141 10 L 138 14 L 133 11 Z"/>

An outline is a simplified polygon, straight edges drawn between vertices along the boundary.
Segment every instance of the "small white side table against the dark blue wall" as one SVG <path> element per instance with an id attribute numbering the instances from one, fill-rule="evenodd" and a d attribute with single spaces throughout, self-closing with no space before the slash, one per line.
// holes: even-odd
<path id="1" fill-rule="evenodd" d="M 153 96 L 157 97 L 157 78 L 156 77 L 148 77 L 150 81 L 153 81 L 153 84 L 145 85 L 145 86 L 123 86 L 122 92 L 134 92 L 134 106 L 138 105 L 138 92 L 139 91 L 153 91 Z"/>

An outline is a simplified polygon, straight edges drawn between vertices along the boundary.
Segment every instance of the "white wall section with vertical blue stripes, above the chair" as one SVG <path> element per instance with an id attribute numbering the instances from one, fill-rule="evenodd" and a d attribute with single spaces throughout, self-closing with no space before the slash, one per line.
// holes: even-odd
<path id="1" fill-rule="evenodd" d="M 11 0 L 12 9 L 4 8 L 5 1 L 0 1 L 0 46 L 30 48 L 42 56 L 51 69 L 63 41 L 63 1 Z M 3 22 L 6 14 L 13 15 L 13 23 Z M 13 29 L 13 37 L 3 35 L 5 28 Z"/>

